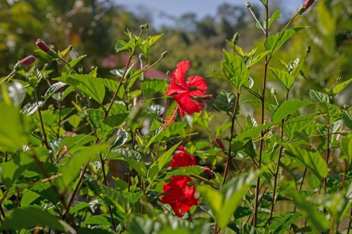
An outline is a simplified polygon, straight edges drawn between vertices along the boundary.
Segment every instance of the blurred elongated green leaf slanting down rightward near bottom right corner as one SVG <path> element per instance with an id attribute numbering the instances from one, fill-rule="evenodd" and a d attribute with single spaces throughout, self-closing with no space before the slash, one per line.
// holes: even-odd
<path id="1" fill-rule="evenodd" d="M 308 202 L 301 193 L 294 190 L 288 192 L 292 196 L 296 206 L 302 210 L 302 214 L 313 224 L 319 232 L 325 231 L 330 226 L 330 220 L 325 219 L 325 215 L 320 213 L 316 206 Z"/>

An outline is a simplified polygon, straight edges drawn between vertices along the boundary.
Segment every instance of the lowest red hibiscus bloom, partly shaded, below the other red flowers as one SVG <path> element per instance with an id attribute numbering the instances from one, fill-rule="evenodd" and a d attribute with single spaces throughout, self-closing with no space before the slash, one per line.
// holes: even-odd
<path id="1" fill-rule="evenodd" d="M 194 186 L 189 185 L 191 178 L 184 175 L 172 176 L 170 183 L 163 186 L 163 192 L 167 193 L 162 196 L 161 201 L 164 204 L 170 204 L 178 217 L 187 212 L 192 206 L 198 206 L 198 199 L 194 198 Z"/>

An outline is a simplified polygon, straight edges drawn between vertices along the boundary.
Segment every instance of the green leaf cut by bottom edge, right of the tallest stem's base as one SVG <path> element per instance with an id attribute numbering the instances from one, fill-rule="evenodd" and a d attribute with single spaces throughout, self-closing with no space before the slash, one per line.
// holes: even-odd
<path id="1" fill-rule="evenodd" d="M 287 213 L 275 218 L 269 227 L 265 228 L 265 234 L 284 234 L 291 224 L 300 218 L 301 213 Z"/>

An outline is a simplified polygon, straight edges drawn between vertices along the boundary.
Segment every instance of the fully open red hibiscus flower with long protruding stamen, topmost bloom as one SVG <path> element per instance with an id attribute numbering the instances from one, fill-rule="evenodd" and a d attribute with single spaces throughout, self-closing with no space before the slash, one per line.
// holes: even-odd
<path id="1" fill-rule="evenodd" d="M 171 83 L 165 93 L 174 97 L 178 105 L 175 112 L 171 114 L 164 124 L 164 129 L 175 121 L 177 110 L 180 111 L 181 118 L 184 113 L 193 114 L 200 112 L 204 104 L 191 99 L 191 97 L 203 96 L 208 88 L 204 78 L 198 75 L 190 76 L 187 78 L 187 81 L 184 81 L 184 75 L 189 68 L 188 60 L 179 62 L 176 67 L 176 70 L 171 73 Z"/>

